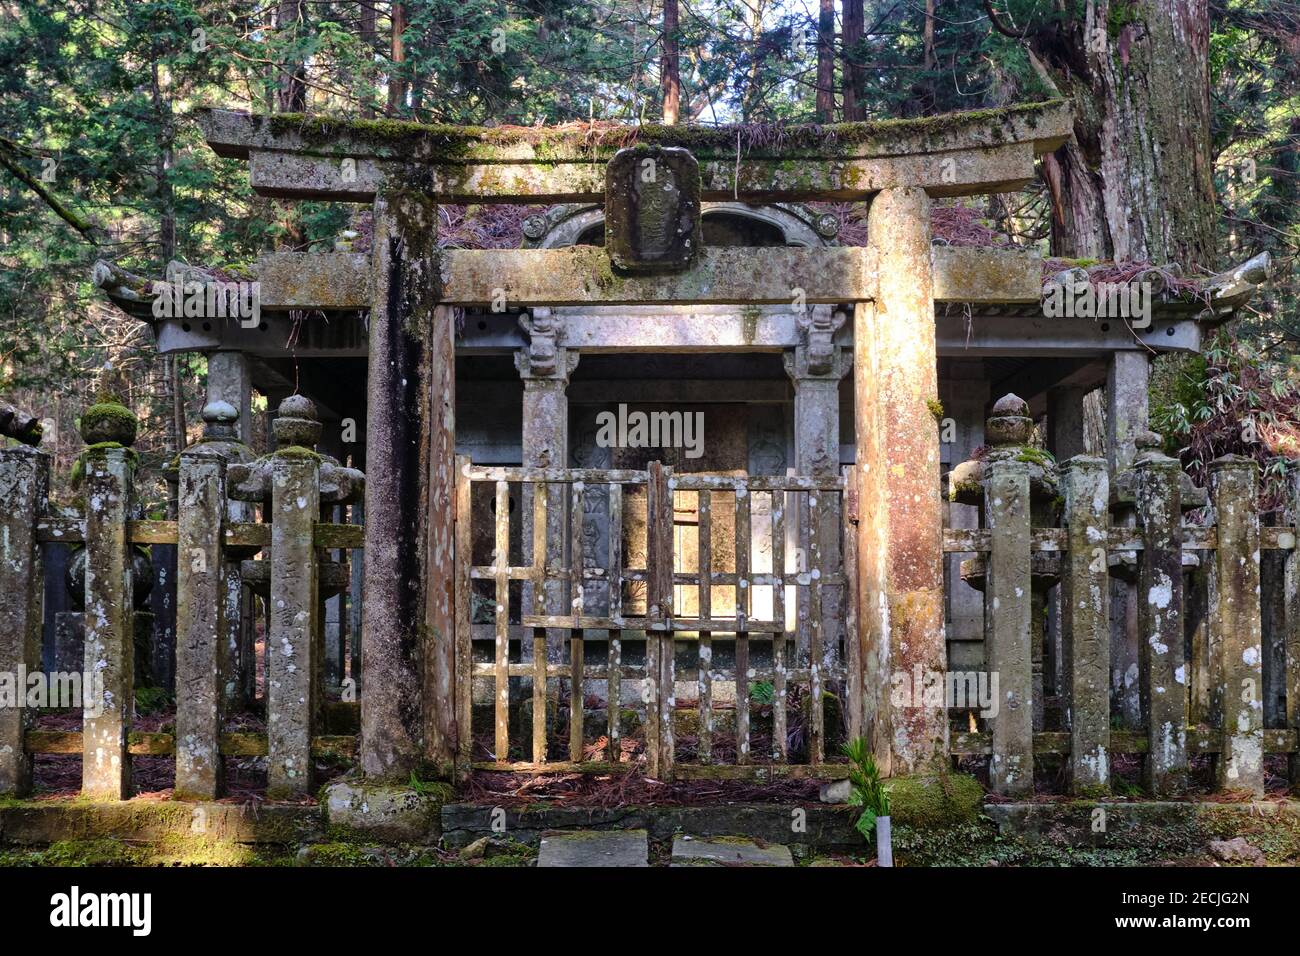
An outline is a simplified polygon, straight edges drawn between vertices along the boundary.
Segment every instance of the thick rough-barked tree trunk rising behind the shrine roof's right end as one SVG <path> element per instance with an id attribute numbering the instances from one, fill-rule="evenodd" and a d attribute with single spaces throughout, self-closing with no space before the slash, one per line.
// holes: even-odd
<path id="1" fill-rule="evenodd" d="M 1052 251 L 1212 271 L 1208 0 L 1088 0 L 1072 21 L 993 21 L 1027 38 L 1074 108 L 1074 138 L 1044 163 Z"/>

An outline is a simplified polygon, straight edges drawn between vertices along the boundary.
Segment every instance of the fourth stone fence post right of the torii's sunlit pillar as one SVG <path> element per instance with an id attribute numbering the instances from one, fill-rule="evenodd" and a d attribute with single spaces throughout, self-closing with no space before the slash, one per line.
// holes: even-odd
<path id="1" fill-rule="evenodd" d="M 1218 661 L 1223 749 L 1216 762 L 1219 790 L 1264 793 L 1264 654 L 1260 631 L 1260 515 L 1257 468 L 1238 455 L 1210 464 L 1210 501 L 1218 548 L 1210 593 L 1212 646 Z"/>

